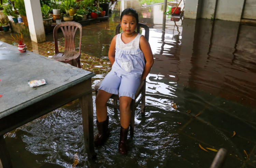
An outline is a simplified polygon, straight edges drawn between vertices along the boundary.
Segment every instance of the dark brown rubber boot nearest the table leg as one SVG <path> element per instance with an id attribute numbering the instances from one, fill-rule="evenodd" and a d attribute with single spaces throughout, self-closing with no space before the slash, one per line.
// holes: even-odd
<path id="1" fill-rule="evenodd" d="M 107 119 L 102 122 L 96 121 L 98 134 L 94 137 L 94 146 L 98 147 L 104 144 L 104 142 L 108 139 L 110 132 L 109 132 L 109 116 Z"/>

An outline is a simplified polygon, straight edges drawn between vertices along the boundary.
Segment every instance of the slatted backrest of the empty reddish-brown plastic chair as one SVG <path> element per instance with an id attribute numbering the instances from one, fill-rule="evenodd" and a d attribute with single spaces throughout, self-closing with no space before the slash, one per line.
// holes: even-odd
<path id="1" fill-rule="evenodd" d="M 53 30 L 53 38 L 55 45 L 55 54 L 59 53 L 58 49 L 58 37 L 57 32 L 61 29 L 65 38 L 65 51 L 75 51 L 75 33 L 76 30 L 80 30 L 80 44 L 79 44 L 79 53 L 81 53 L 81 42 L 82 42 L 82 25 L 77 22 L 67 21 L 59 23 L 55 26 Z"/>

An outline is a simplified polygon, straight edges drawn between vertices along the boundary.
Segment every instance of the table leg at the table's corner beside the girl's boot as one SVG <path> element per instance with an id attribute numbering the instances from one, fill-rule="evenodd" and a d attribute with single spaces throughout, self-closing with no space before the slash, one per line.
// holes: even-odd
<path id="1" fill-rule="evenodd" d="M 93 129 L 93 96 L 92 93 L 82 96 L 79 98 L 81 110 L 82 110 L 82 119 L 83 119 L 83 129 L 84 129 L 84 144 L 85 150 L 90 159 L 96 157 L 94 151 L 94 129 Z"/>

